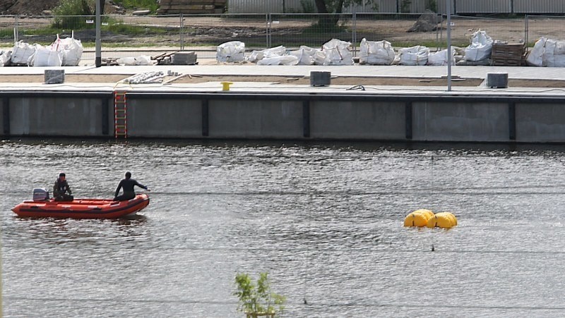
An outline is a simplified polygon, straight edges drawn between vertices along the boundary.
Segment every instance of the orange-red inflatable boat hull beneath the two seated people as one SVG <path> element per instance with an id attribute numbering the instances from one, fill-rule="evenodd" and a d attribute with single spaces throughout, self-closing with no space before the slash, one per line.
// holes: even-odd
<path id="1" fill-rule="evenodd" d="M 143 193 L 128 201 L 111 199 L 75 199 L 66 202 L 56 202 L 53 199 L 24 201 L 16 205 L 12 211 L 18 216 L 33 218 L 118 219 L 136 214 L 148 204 L 149 197 Z"/>

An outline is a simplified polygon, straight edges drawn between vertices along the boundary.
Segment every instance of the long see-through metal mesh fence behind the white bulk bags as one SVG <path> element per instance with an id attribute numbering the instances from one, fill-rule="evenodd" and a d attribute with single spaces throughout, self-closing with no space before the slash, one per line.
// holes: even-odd
<path id="1" fill-rule="evenodd" d="M 330 21 L 333 18 L 335 23 Z M 436 30 L 408 32 L 418 18 L 420 14 L 405 13 L 103 16 L 102 58 L 132 56 L 142 51 L 141 48 L 146 52 L 191 50 L 201 52 L 199 57 L 214 57 L 219 44 L 233 40 L 244 42 L 247 49 L 278 45 L 288 49 L 301 45 L 321 47 L 333 38 L 352 42 L 354 48 L 362 38 L 386 39 L 396 48 L 446 47 L 446 17 L 436 16 L 440 22 Z M 451 38 L 453 45 L 465 47 L 473 32 L 484 30 L 495 40 L 527 42 L 531 46 L 542 36 L 562 39 L 564 26 L 565 18 L 556 16 L 453 16 Z M 57 34 L 70 37 L 73 33 L 83 42 L 86 51 L 93 51 L 95 23 L 92 16 L 0 16 L 0 47 L 3 48 L 19 40 L 50 44 Z"/>

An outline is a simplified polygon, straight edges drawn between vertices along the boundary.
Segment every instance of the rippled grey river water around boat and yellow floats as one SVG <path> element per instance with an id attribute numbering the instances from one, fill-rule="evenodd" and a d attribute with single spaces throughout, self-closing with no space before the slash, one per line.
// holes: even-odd
<path id="1" fill-rule="evenodd" d="M 564 317 L 564 164 L 557 146 L 3 140 L 4 317 L 244 317 L 234 276 L 263 271 L 285 317 Z M 11 212 L 60 171 L 76 197 L 131 171 L 151 202 Z M 459 225 L 404 228 L 418 208 Z"/>

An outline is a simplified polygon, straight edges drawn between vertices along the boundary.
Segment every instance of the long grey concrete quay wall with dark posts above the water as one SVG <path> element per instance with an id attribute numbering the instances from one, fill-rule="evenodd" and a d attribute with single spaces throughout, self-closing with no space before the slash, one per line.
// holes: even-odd
<path id="1" fill-rule="evenodd" d="M 112 92 L 0 92 L 2 136 L 114 137 Z M 127 93 L 129 137 L 565 142 L 565 98 Z"/>

